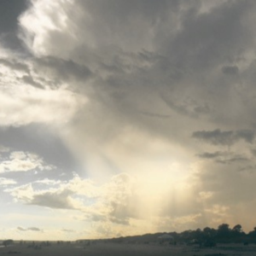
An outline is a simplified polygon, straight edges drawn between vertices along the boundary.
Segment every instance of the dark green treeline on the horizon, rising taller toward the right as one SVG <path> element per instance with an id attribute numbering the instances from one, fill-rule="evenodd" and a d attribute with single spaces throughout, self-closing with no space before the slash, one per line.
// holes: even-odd
<path id="1" fill-rule="evenodd" d="M 198 243 L 203 245 L 214 245 L 216 243 L 229 243 L 229 242 L 242 242 L 244 245 L 248 243 L 256 243 L 256 227 L 245 233 L 242 230 L 241 224 L 236 224 L 233 228 L 230 228 L 229 224 L 220 224 L 218 229 L 212 229 L 209 227 L 203 230 L 185 230 L 181 233 L 168 232 L 168 233 L 156 233 L 156 234 L 146 234 L 142 236 L 125 236 L 108 239 L 108 241 L 114 242 L 162 242 L 160 239 L 163 235 L 169 235 L 172 238 L 169 239 L 170 243 L 177 244 L 181 242 L 185 243 Z M 168 240 L 168 239 L 166 239 Z M 165 241 L 166 242 L 166 241 Z"/>

